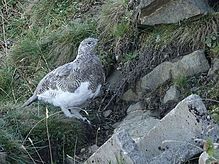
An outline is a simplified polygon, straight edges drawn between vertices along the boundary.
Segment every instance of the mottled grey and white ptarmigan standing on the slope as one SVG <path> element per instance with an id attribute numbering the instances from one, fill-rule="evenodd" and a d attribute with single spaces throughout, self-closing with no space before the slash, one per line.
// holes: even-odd
<path id="1" fill-rule="evenodd" d="M 95 98 L 105 81 L 102 64 L 95 54 L 97 41 L 83 40 L 76 59 L 49 72 L 22 107 L 42 100 L 60 107 L 67 117 L 87 120 L 79 113 L 79 106 Z"/>

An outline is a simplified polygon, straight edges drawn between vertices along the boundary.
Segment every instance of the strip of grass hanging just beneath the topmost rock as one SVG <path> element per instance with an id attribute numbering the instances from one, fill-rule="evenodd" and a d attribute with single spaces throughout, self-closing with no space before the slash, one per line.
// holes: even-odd
<path id="1" fill-rule="evenodd" d="M 153 47 L 156 50 L 168 45 L 181 48 L 205 48 L 209 36 L 217 35 L 219 14 L 208 14 L 197 18 L 190 18 L 180 24 L 162 24 L 147 27 L 142 31 L 142 47 Z M 212 38 L 211 38 L 212 39 Z M 209 40 L 209 39 L 208 39 Z"/>

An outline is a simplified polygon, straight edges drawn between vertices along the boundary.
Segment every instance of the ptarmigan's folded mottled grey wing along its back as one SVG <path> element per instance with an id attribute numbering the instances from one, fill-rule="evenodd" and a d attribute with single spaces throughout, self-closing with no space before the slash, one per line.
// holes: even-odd
<path id="1" fill-rule="evenodd" d="M 56 68 L 48 73 L 38 84 L 36 94 L 40 95 L 45 91 L 52 89 L 71 92 L 75 91 L 79 86 L 77 76 L 80 72 L 77 63 L 67 63 L 63 66 Z M 68 79 L 70 78 L 71 81 Z"/>

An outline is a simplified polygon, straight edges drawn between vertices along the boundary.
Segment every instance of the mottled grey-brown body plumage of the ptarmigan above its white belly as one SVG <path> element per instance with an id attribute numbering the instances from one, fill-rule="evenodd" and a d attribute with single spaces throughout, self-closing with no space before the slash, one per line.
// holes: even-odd
<path id="1" fill-rule="evenodd" d="M 81 82 L 90 82 L 89 89 L 96 91 L 104 83 L 104 71 L 100 60 L 94 54 L 79 56 L 73 62 L 60 66 L 48 73 L 38 84 L 35 94 L 40 95 L 48 89 L 74 92 Z"/>

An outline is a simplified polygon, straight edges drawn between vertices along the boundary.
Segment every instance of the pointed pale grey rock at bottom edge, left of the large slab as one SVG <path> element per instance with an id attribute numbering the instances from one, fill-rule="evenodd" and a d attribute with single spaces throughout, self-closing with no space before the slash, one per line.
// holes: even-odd
<path id="1" fill-rule="evenodd" d="M 85 164 L 108 164 L 118 163 L 118 161 L 126 164 L 145 164 L 143 154 L 124 130 L 114 134 L 85 161 Z"/>

